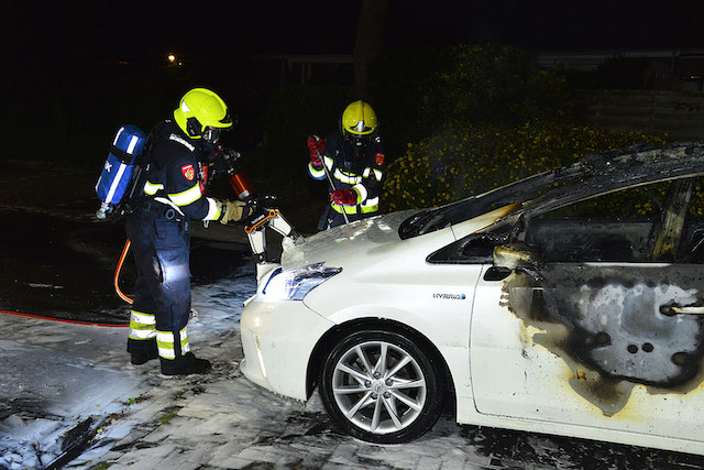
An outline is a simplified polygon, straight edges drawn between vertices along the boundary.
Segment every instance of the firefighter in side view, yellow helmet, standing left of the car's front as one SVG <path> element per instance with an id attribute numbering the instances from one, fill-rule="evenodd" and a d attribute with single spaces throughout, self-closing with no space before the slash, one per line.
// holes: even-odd
<path id="1" fill-rule="evenodd" d="M 128 351 L 133 364 L 158 358 L 166 375 L 204 373 L 210 362 L 190 352 L 189 221 L 227 223 L 246 217 L 239 200 L 207 196 L 220 133 L 232 127 L 224 101 L 195 88 L 158 123 L 145 150 L 142 200 L 127 220 L 138 269 Z"/>

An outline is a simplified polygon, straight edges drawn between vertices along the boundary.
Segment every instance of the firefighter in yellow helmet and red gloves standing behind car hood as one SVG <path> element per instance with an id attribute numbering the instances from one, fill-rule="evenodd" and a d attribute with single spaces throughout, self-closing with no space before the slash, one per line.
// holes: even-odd
<path id="1" fill-rule="evenodd" d="M 324 140 L 309 138 L 308 151 L 310 176 L 327 181 L 327 172 L 333 186 L 319 230 L 376 215 L 386 156 L 376 113 L 367 102 L 351 102 L 340 118 L 340 131 Z"/>

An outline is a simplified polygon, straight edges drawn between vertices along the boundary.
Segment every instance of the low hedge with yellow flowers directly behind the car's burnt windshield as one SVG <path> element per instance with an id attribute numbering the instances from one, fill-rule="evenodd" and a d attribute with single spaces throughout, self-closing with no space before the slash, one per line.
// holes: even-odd
<path id="1" fill-rule="evenodd" d="M 535 121 L 507 129 L 450 124 L 408 144 L 388 167 L 383 200 L 387 210 L 435 207 L 637 142 L 663 144 L 667 136 Z"/>

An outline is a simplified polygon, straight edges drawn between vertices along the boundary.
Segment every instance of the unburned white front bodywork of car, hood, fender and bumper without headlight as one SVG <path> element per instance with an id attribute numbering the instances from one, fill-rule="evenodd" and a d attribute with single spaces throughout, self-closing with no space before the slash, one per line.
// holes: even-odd
<path id="1" fill-rule="evenodd" d="M 457 393 L 472 396 L 466 361 L 469 321 L 481 266 L 428 264 L 424 253 L 453 242 L 453 231 L 447 228 L 402 241 L 398 225 L 409 214 L 397 212 L 338 227 L 284 252 L 283 267 L 326 260 L 327 266 L 343 264 L 343 271 L 327 280 L 322 284 L 324 288 L 312 289 L 304 302 L 271 302 L 261 292 L 248 302 L 241 320 L 245 352 L 242 371 L 248 379 L 276 393 L 306 400 L 306 368 L 300 364 L 307 365 L 315 347 L 308 339 L 317 340 L 334 325 L 352 319 L 385 318 L 424 331 L 457 378 Z M 476 230 L 495 217 L 484 216 L 465 225 L 473 225 Z M 408 256 L 409 249 L 418 256 Z M 378 252 L 384 256 L 378 256 Z M 397 256 L 394 256 L 395 252 Z M 458 275 L 459 272 L 463 274 Z M 429 284 L 429 276 L 438 282 Z M 262 285 L 267 278 L 262 280 Z M 418 287 L 414 296 L 408 295 L 409 284 Z M 464 298 L 433 299 L 433 294 L 464 295 Z M 361 304 L 360 298 L 365 302 Z M 435 311 L 439 305 L 443 308 L 429 317 L 428 311 Z M 272 336 L 284 336 L 283 332 L 290 338 L 286 345 L 267 340 Z M 294 340 L 297 337 L 301 338 Z M 305 361 L 294 361 L 294 358 L 304 357 Z M 296 365 L 292 369 L 292 364 Z"/>

